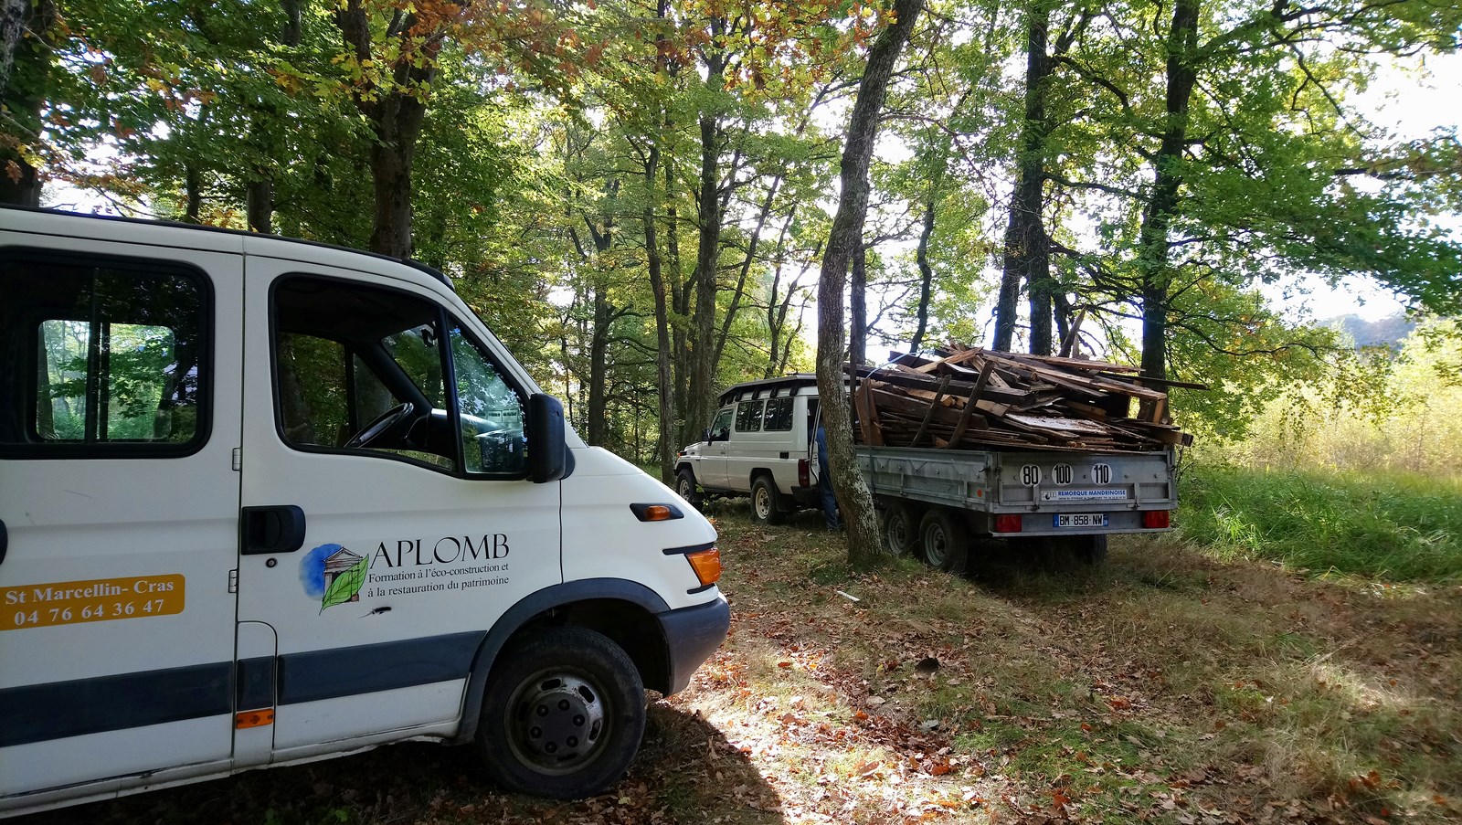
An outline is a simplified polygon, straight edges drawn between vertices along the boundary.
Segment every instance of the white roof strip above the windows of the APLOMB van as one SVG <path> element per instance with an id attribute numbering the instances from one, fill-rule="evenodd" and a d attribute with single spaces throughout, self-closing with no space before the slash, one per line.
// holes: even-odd
<path id="1" fill-rule="evenodd" d="M 26 219 L 25 215 L 32 215 L 34 218 Z M 249 252 L 251 255 L 270 255 L 281 257 L 291 257 L 288 249 L 298 250 L 314 249 L 314 250 L 330 250 L 330 252 L 346 252 L 351 255 L 364 255 L 379 260 L 390 260 L 393 263 L 402 263 L 411 266 L 418 272 L 430 275 L 433 279 L 446 284 L 452 288 L 452 279 L 447 278 L 444 272 L 436 269 L 434 266 L 427 266 L 418 260 L 390 257 L 389 255 L 380 255 L 374 252 L 366 252 L 361 249 L 352 249 L 348 246 L 339 246 L 332 243 L 320 243 L 304 238 L 287 238 L 284 236 L 265 236 L 259 233 L 250 233 L 244 230 L 230 230 L 224 227 L 205 227 L 199 224 L 181 224 L 177 221 L 154 221 L 146 218 L 123 218 L 118 215 L 88 215 L 85 212 L 70 212 L 66 209 L 42 209 L 34 206 L 13 206 L 7 203 L 0 203 L 0 230 L 18 230 L 18 231 L 32 231 L 32 233 L 54 233 L 57 228 L 56 221 L 72 222 L 72 221 L 88 221 L 92 222 L 95 230 L 95 237 L 98 240 L 133 240 L 146 243 L 158 243 L 162 246 L 186 246 L 186 247 L 203 247 L 216 249 L 221 252 L 244 253 L 244 244 L 249 244 Z M 16 225 L 19 224 L 19 225 Z M 64 224 L 61 224 L 64 225 Z M 127 234 L 124 227 L 148 227 L 142 230 L 148 234 L 156 234 L 156 237 L 139 238 L 139 237 L 123 237 Z M 111 230 L 111 231 L 108 231 Z M 121 231 L 117 231 L 121 230 Z M 76 230 L 67 230 L 67 233 L 75 233 Z M 136 231 L 136 230 L 133 230 Z M 208 238 L 203 241 L 202 238 Z M 246 240 L 247 238 L 247 240 Z M 275 244 L 288 244 L 279 249 L 270 249 Z"/>

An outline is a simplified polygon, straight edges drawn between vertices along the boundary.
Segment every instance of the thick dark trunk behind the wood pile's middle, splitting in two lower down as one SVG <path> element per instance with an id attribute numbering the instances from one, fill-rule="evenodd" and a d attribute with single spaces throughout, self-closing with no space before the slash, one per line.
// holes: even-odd
<path id="1" fill-rule="evenodd" d="M 1048 0 L 1032 0 L 1026 16 L 1025 120 L 1020 124 L 1020 154 L 1016 183 L 1010 193 L 1010 219 L 1004 237 L 1000 303 L 996 307 L 996 350 L 1013 347 L 1016 301 L 1025 281 L 1031 306 L 1031 351 L 1051 354 L 1051 263 L 1042 209 L 1045 206 L 1045 139 L 1050 124 L 1045 98 L 1051 59 Z"/>

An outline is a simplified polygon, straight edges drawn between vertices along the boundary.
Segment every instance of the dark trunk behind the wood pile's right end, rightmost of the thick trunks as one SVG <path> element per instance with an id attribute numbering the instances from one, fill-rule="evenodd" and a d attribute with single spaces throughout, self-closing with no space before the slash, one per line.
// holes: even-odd
<path id="1" fill-rule="evenodd" d="M 1183 149 L 1187 145 L 1189 101 L 1197 83 L 1194 57 L 1200 0 L 1177 0 L 1168 31 L 1167 129 L 1152 158 L 1152 196 L 1142 215 L 1137 236 L 1137 276 L 1142 298 L 1142 376 L 1167 377 L 1168 332 L 1168 230 L 1177 214 L 1183 186 Z"/>

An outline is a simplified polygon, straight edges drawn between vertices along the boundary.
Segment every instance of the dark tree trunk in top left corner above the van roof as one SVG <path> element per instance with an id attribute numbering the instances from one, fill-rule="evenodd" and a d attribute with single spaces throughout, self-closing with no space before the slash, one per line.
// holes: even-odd
<path id="1" fill-rule="evenodd" d="M 53 0 L 0 0 L 0 203 L 41 205 L 41 174 L 22 148 L 41 140 L 41 110 L 51 86 Z"/>

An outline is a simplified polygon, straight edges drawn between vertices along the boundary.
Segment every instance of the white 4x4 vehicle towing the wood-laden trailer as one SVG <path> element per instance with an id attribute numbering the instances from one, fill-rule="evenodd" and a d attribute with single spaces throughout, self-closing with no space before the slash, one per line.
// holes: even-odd
<path id="1" fill-rule="evenodd" d="M 763 524 L 819 506 L 817 376 L 738 383 L 719 402 L 703 440 L 675 462 L 680 497 L 699 506 L 703 496 L 750 496 L 751 518 Z"/>

